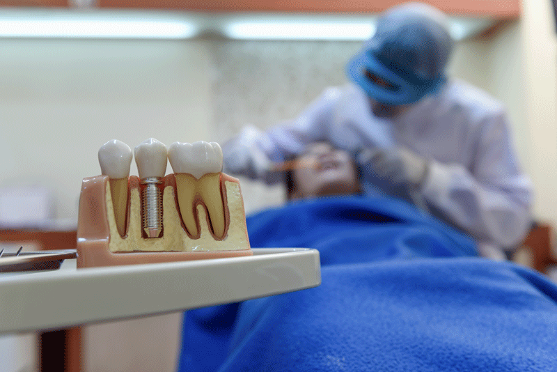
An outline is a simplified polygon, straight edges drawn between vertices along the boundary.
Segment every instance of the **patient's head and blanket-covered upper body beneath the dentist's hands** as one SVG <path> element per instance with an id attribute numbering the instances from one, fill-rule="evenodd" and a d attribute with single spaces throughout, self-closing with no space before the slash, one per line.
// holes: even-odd
<path id="1" fill-rule="evenodd" d="M 476 256 L 476 242 L 416 206 L 391 196 L 362 196 L 350 154 L 326 142 L 285 163 L 288 203 L 247 218 L 252 247 L 309 247 L 322 265 L 341 259 L 385 261 Z"/>

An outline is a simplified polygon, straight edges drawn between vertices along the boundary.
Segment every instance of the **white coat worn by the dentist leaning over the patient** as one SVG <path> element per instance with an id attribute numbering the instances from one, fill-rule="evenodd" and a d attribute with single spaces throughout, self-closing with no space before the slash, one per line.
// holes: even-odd
<path id="1" fill-rule="evenodd" d="M 429 171 L 414 192 L 384 183 L 366 164 L 363 188 L 410 201 L 418 195 L 432 214 L 482 244 L 514 247 L 531 225 L 531 181 L 517 162 L 505 110 L 469 84 L 451 80 L 395 120 L 373 116 L 358 86 L 327 88 L 295 120 L 267 132 L 248 126 L 226 142 L 225 170 L 278 182 L 269 161 L 281 162 L 320 140 L 350 152 L 404 146 L 427 158 Z"/>

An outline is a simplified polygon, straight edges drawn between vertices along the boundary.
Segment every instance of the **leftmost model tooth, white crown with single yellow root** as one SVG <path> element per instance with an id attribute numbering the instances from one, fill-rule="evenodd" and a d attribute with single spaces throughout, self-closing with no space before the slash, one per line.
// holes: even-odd
<path id="1" fill-rule="evenodd" d="M 130 176 L 132 149 L 122 141 L 112 139 L 99 149 L 99 163 L 101 173 L 110 178 L 116 227 L 118 233 L 124 236 L 127 215 L 127 178 Z"/>

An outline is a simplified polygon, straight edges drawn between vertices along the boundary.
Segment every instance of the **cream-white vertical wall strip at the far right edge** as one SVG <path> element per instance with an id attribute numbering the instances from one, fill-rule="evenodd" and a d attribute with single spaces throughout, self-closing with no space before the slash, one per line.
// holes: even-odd
<path id="1" fill-rule="evenodd" d="M 531 144 L 529 171 L 536 187 L 535 213 L 557 223 L 556 28 L 550 1 L 523 0 L 524 100 Z"/>

